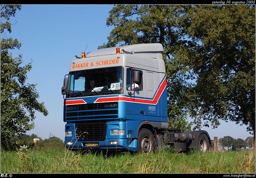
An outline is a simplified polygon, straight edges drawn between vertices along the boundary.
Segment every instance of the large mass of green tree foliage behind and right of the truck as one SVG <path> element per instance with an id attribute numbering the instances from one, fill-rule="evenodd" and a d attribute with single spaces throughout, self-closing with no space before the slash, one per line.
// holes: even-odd
<path id="1" fill-rule="evenodd" d="M 225 120 L 255 135 L 255 6 L 117 5 L 109 14 L 114 29 L 98 48 L 163 45 L 171 127 Z"/>

